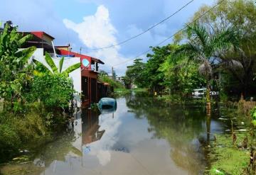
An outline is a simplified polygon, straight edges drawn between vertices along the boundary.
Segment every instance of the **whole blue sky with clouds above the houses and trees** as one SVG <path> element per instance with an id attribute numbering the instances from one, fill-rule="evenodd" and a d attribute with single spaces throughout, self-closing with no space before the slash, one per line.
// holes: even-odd
<path id="1" fill-rule="evenodd" d="M 190 0 L 1 0 L 0 20 L 11 20 L 19 30 L 43 30 L 55 37 L 55 45 L 70 43 L 73 50 L 80 47 L 105 47 L 137 35 L 150 26 L 180 9 Z M 110 72 L 110 67 L 132 59 L 161 40 L 169 37 L 189 21 L 203 4 L 213 0 L 195 0 L 186 9 L 148 33 L 129 43 L 107 50 L 82 52 L 98 57 L 106 64 L 101 67 Z M 171 43 L 171 40 L 164 45 Z M 144 56 L 142 56 L 144 58 Z M 114 67 L 118 75 L 127 65 Z"/>

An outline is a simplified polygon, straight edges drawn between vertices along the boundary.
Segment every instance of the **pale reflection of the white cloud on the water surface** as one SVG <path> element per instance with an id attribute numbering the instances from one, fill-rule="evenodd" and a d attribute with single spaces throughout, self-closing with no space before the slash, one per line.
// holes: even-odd
<path id="1" fill-rule="evenodd" d="M 117 100 L 117 103 L 118 101 L 119 100 Z M 125 100 L 124 103 L 121 104 L 114 113 L 114 118 L 112 118 L 112 113 L 105 113 L 99 116 L 100 130 L 106 130 L 106 132 L 102 135 L 101 140 L 87 145 L 90 145 L 91 148 L 88 154 L 96 156 L 102 166 L 107 165 L 111 160 L 110 150 L 112 150 L 112 147 L 116 144 L 115 137 L 117 137 L 119 127 L 122 125 L 122 117 L 127 112 Z"/>

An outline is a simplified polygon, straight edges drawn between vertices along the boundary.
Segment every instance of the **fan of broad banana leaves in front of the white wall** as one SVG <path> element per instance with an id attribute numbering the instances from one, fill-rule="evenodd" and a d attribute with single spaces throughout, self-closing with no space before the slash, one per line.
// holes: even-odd
<path id="1" fill-rule="evenodd" d="M 43 65 L 41 62 L 38 62 L 37 60 L 33 60 L 33 62 L 36 64 L 36 71 L 34 72 L 36 75 L 41 76 L 43 74 L 61 74 L 61 75 L 64 75 L 65 77 L 68 77 L 68 74 L 70 74 L 75 69 L 78 69 L 81 66 L 80 63 L 73 64 L 72 66 L 68 67 L 63 71 L 64 57 L 60 59 L 59 66 L 56 67 L 55 63 L 53 62 L 53 58 L 50 57 L 48 52 L 46 52 L 45 60 L 48 66 L 50 67 L 50 69 L 48 69 L 48 67 Z"/>

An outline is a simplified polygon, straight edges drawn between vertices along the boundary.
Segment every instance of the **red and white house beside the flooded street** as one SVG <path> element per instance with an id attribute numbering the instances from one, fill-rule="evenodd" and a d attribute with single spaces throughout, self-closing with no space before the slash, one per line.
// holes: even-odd
<path id="1" fill-rule="evenodd" d="M 70 45 L 55 47 L 53 44 L 55 38 L 43 31 L 24 33 L 24 35 L 27 34 L 32 34 L 33 39 L 28 40 L 23 48 L 37 47 L 31 60 L 38 60 L 48 67 L 45 61 L 45 54 L 48 52 L 53 57 L 56 67 L 58 67 L 61 57 L 64 57 L 63 70 L 78 62 L 81 63 L 80 69 L 69 74 L 70 78 L 73 79 L 74 89 L 78 92 L 75 94 L 75 101 L 79 107 L 97 103 L 100 98 L 107 96 L 108 85 L 97 80 L 99 64 L 104 64 L 104 62 L 95 57 L 71 52 Z"/>

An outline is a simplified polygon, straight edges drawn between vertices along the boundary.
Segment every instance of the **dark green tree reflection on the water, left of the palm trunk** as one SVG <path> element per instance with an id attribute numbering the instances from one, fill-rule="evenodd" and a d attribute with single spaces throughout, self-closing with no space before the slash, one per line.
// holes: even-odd
<path id="1" fill-rule="evenodd" d="M 204 157 L 197 138 L 205 132 L 206 116 L 201 108 L 167 106 L 154 98 L 144 98 L 143 94 L 127 97 L 127 106 L 138 118 L 147 118 L 151 126 L 148 130 L 155 138 L 168 140 L 170 156 L 178 166 L 189 174 L 202 173 Z"/>

